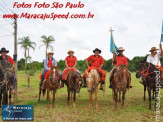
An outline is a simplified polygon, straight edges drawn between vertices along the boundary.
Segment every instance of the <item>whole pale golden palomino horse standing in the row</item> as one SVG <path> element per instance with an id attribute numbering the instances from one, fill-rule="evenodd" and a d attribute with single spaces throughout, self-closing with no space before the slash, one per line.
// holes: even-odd
<path id="1" fill-rule="evenodd" d="M 96 110 L 98 110 L 97 92 L 98 92 L 99 82 L 100 82 L 100 75 L 96 69 L 92 69 L 89 73 L 87 72 L 86 83 L 87 83 L 87 88 L 89 92 L 88 109 L 91 109 L 92 94 L 95 93 L 95 107 L 96 107 Z"/>

